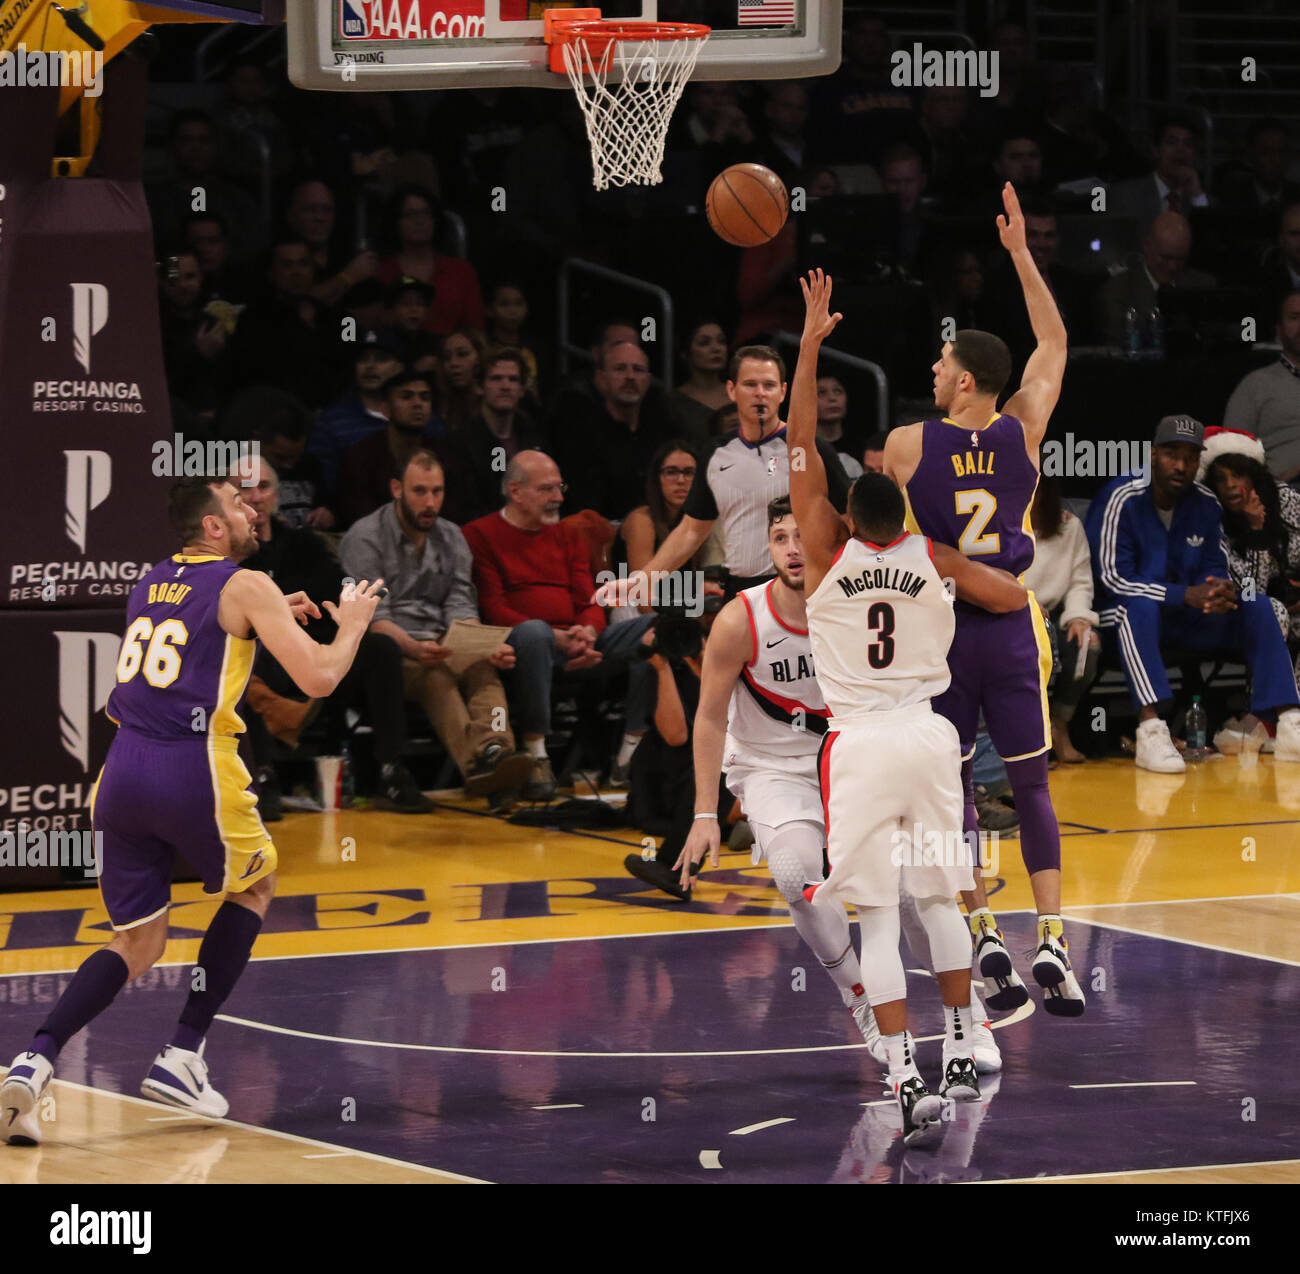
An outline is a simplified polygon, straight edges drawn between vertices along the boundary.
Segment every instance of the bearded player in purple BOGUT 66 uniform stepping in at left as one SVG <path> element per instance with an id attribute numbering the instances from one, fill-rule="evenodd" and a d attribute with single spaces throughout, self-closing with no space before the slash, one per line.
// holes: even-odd
<path id="1" fill-rule="evenodd" d="M 172 1043 L 140 1091 L 200 1115 L 226 1114 L 226 1098 L 208 1080 L 204 1036 L 248 963 L 276 887 L 276 846 L 237 751 L 257 642 L 303 693 L 324 698 L 351 666 L 384 582 L 348 584 L 337 606 L 325 603 L 338 636 L 321 646 L 299 628 L 308 615 L 320 618 L 306 593 L 286 598 L 270 576 L 239 568 L 257 538 L 234 485 L 185 478 L 172 488 L 168 512 L 183 547 L 127 601 L 108 698 L 118 732 L 91 796 L 103 833 L 99 888 L 114 936 L 82 962 L 0 1086 L 0 1136 L 14 1145 L 40 1140 L 40 1098 L 60 1049 L 162 957 L 178 853 L 204 893 L 224 901 L 199 946 Z"/>

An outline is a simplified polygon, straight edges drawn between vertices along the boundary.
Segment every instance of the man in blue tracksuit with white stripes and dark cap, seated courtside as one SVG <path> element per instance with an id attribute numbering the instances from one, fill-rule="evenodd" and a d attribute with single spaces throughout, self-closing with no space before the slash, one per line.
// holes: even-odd
<path id="1" fill-rule="evenodd" d="M 1205 430 L 1191 416 L 1156 428 L 1149 474 L 1108 484 L 1088 510 L 1097 614 L 1138 708 L 1138 764 L 1186 768 L 1161 719 L 1174 705 L 1162 647 L 1231 647 L 1251 670 L 1251 711 L 1277 723 L 1275 757 L 1300 762 L 1300 696 L 1266 597 L 1228 578 L 1218 500 L 1196 484 Z"/>

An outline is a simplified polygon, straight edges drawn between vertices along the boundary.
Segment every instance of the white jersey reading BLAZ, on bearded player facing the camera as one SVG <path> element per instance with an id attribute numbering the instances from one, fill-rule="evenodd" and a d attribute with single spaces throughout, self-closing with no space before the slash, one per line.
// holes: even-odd
<path id="1" fill-rule="evenodd" d="M 775 580 L 737 594 L 749 614 L 753 647 L 727 708 L 729 759 L 815 757 L 829 715 L 812 667 L 807 629 L 790 628 L 772 610 Z"/>

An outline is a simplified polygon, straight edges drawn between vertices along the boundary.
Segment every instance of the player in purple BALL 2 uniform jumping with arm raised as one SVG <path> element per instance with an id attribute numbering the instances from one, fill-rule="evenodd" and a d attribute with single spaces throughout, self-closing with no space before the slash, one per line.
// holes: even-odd
<path id="1" fill-rule="evenodd" d="M 907 528 L 965 556 L 1002 567 L 1018 578 L 1034 562 L 1030 511 L 1039 482 L 1039 446 L 1061 395 L 1066 330 L 1052 292 L 1024 242 L 1024 217 L 1015 190 L 1002 188 L 1005 216 L 997 218 L 1010 252 L 1037 346 L 1020 387 L 997 410 L 1011 374 L 1006 344 L 988 332 L 958 332 L 935 363 L 935 406 L 942 417 L 894 429 L 885 443 L 885 473 L 907 500 Z M 1052 722 L 1046 685 L 1052 647 L 1035 603 L 1024 612 L 992 615 L 958 602 L 957 636 L 948 662 L 953 681 L 935 701 L 962 744 L 966 828 L 978 828 L 972 757 L 983 714 L 1020 818 L 1020 853 L 1037 907 L 1034 978 L 1043 1006 L 1057 1017 L 1079 1017 L 1084 996 L 1070 967 L 1061 920 L 1061 829 L 1048 789 Z M 988 997 L 994 1009 L 1014 1009 L 1028 998 L 1011 965 L 984 881 L 965 896 L 980 974 L 997 983 Z"/>

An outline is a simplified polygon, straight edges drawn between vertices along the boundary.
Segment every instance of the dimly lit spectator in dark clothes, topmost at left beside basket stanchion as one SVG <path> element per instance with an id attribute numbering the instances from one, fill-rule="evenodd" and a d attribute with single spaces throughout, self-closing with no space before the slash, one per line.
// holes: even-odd
<path id="1" fill-rule="evenodd" d="M 263 211 L 243 186 L 217 168 L 217 139 L 203 110 L 177 110 L 168 133 L 170 176 L 148 188 L 156 243 L 176 243 L 185 218 L 195 211 L 195 191 L 203 209 L 217 213 L 230 228 L 234 255 L 248 259 L 265 242 Z"/>

